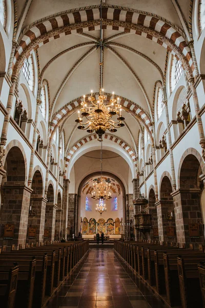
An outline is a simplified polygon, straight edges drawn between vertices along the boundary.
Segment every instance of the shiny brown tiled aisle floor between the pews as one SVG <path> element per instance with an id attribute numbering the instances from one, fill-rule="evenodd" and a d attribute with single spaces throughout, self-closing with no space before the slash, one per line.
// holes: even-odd
<path id="1" fill-rule="evenodd" d="M 122 266 L 123 265 L 123 266 Z M 92 248 L 48 308 L 162 308 L 163 304 L 114 254 Z"/>

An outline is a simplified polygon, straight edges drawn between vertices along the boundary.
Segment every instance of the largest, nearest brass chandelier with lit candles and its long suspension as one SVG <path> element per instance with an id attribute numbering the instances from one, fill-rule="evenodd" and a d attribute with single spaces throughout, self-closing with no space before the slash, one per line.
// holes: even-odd
<path id="1" fill-rule="evenodd" d="M 116 132 L 117 128 L 125 126 L 122 121 L 125 120 L 124 117 L 121 116 L 121 105 L 119 104 L 119 98 L 115 98 L 114 92 L 112 92 L 112 98 L 110 102 L 107 104 L 106 95 L 104 95 L 103 89 L 103 52 L 105 44 L 103 42 L 103 0 L 100 0 L 100 40 L 97 45 L 97 48 L 100 47 L 100 89 L 99 89 L 99 97 L 98 100 L 93 97 L 93 91 L 91 90 L 91 95 L 88 96 L 88 103 L 85 100 L 81 102 L 81 106 L 83 106 L 80 111 L 78 111 L 78 118 L 75 120 L 78 123 L 78 129 L 87 130 L 87 132 L 92 133 L 96 132 L 98 135 L 98 141 L 103 141 L 103 134 L 109 130 L 111 132 Z M 118 115 L 117 121 L 113 120 L 112 117 L 114 115 Z M 86 118 L 86 122 L 83 123 L 83 118 Z"/>

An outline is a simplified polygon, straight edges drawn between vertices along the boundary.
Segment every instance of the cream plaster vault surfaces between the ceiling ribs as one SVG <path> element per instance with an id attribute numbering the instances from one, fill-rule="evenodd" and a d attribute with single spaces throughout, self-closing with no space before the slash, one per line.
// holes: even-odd
<path id="1" fill-rule="evenodd" d="M 130 9 L 157 14 L 182 29 L 179 17 L 173 5 L 175 0 L 106 0 L 104 3 L 105 2 L 108 5 L 127 7 Z M 23 7 L 26 3 L 28 3 L 26 0 L 17 0 L 18 17 L 21 15 Z M 188 22 L 189 5 L 187 5 L 187 0 L 178 0 L 178 3 L 183 14 L 185 15 L 186 21 Z M 49 15 L 57 14 L 69 9 L 95 5 L 99 5 L 99 0 L 32 0 L 23 24 L 23 29 L 30 24 L 39 21 L 40 18 L 45 18 Z M 109 38 L 113 35 L 122 33 L 121 31 L 116 30 L 104 30 L 103 32 L 104 38 Z M 99 30 L 88 31 L 87 34 L 88 36 L 92 35 L 99 40 Z M 51 40 L 49 43 L 38 48 L 40 71 L 42 71 L 47 63 L 60 52 L 63 52 L 77 44 L 92 44 L 93 40 L 88 36 L 84 34 L 70 34 L 57 38 L 56 40 Z M 162 72 L 165 70 L 167 50 L 144 36 L 130 33 L 115 36 L 110 43 L 110 46 L 136 73 L 144 86 L 152 105 L 154 84 L 157 80 L 161 80 L 161 75 L 153 64 L 151 64 L 143 56 L 130 51 L 129 48 L 133 48 L 149 57 L 156 63 L 156 65 L 160 67 Z M 119 46 L 112 45 L 112 43 L 126 45 L 128 49 L 122 49 Z M 49 83 L 51 105 L 54 102 L 53 100 L 55 95 L 64 81 L 65 76 L 79 61 L 79 59 L 91 48 L 91 45 L 86 45 L 70 52 L 65 52 L 60 56 L 57 56 L 56 59 L 46 68 L 43 74 L 43 79 L 47 79 Z M 122 60 L 120 60 L 116 54 L 113 54 L 109 48 L 105 48 L 104 52 L 103 85 L 106 92 L 111 93 L 114 91 L 116 95 L 120 95 L 121 97 L 133 101 L 135 104 L 141 106 L 141 108 L 149 114 L 149 117 L 152 118 L 150 108 L 148 107 L 148 103 L 145 98 L 145 93 L 136 81 L 135 76 L 122 62 Z M 59 91 L 59 95 L 54 102 L 52 114 L 57 112 L 70 101 L 75 100 L 83 94 L 90 93 L 91 89 L 94 92 L 98 92 L 99 90 L 99 48 L 97 50 L 95 48 L 93 52 L 85 57 L 85 59 L 73 70 L 72 74 Z M 125 117 L 126 126 L 118 129 L 115 136 L 119 137 L 121 140 L 124 140 L 136 152 L 139 125 L 131 113 L 122 111 L 122 115 Z M 79 139 L 88 135 L 87 131 L 74 129 L 76 126 L 76 117 L 77 113 L 75 112 L 64 124 L 65 145 L 69 141 L 68 148 L 74 145 Z M 113 146 L 111 141 L 107 141 L 107 143 L 109 142 L 111 146 Z M 97 140 L 92 143 L 95 143 L 96 147 L 100 147 Z"/>

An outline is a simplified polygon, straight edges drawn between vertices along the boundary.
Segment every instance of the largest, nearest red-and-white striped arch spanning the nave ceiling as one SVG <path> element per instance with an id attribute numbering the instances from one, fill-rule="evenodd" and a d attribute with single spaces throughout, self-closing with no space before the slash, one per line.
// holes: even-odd
<path id="1" fill-rule="evenodd" d="M 99 6 L 91 6 L 61 12 L 29 25 L 18 40 L 19 45 L 13 60 L 13 67 L 16 64 L 14 75 L 19 73 L 25 58 L 33 49 L 64 35 L 99 30 L 99 18 Z M 104 4 L 103 28 L 146 36 L 172 51 L 192 75 L 194 64 L 186 34 L 165 18 L 148 12 Z"/>

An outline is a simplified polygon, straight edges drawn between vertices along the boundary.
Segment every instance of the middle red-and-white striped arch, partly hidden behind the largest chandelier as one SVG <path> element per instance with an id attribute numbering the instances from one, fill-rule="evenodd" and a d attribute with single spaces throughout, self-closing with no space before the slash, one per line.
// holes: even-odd
<path id="1" fill-rule="evenodd" d="M 98 99 L 98 94 L 99 93 L 93 94 L 93 97 L 95 97 L 96 100 Z M 104 95 L 106 95 L 107 101 L 110 101 L 112 94 L 104 93 Z M 74 112 L 75 109 L 77 109 L 80 106 L 80 103 L 83 102 L 83 100 L 84 100 L 83 97 L 79 97 L 76 100 L 69 102 L 67 105 L 62 107 L 53 115 L 53 119 L 51 121 L 50 134 L 52 134 L 56 126 L 60 126 L 60 124 L 63 122 L 63 120 L 65 120 L 65 118 L 71 111 Z M 85 101 L 88 102 L 87 96 Z M 139 105 L 135 104 L 134 102 L 120 96 L 119 96 L 119 104 L 122 107 L 124 107 L 124 109 L 127 109 L 133 115 L 137 115 L 140 121 L 147 127 L 151 137 L 153 136 L 152 122 L 150 120 L 148 113 L 144 109 L 142 109 Z"/>

